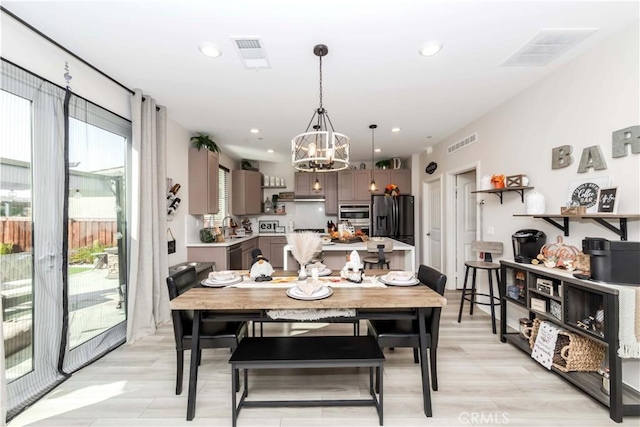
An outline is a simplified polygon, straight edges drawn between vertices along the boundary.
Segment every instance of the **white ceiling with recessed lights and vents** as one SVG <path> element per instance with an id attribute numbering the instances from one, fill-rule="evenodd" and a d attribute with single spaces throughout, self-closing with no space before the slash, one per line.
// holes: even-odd
<path id="1" fill-rule="evenodd" d="M 291 138 L 324 106 L 352 160 L 423 151 L 638 20 L 638 2 L 201 0 L 3 1 L 29 24 L 237 158 L 288 161 Z M 501 63 L 542 29 L 598 32 L 544 67 Z M 259 36 L 270 69 L 247 70 L 230 37 Z M 436 56 L 418 55 L 429 40 Z M 203 56 L 201 42 L 223 50 Z M 82 94 L 80 94 L 82 95 Z M 392 127 L 400 127 L 392 133 Z M 251 134 L 258 128 L 259 134 Z M 429 138 L 429 136 L 431 138 Z M 268 148 L 276 153 L 267 154 Z"/>

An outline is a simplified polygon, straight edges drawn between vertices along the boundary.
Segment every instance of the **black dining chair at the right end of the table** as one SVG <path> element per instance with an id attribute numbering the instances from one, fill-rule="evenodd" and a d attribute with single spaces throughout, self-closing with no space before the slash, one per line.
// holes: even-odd
<path id="1" fill-rule="evenodd" d="M 421 265 L 418 269 L 418 280 L 440 295 L 444 295 L 447 276 L 438 270 Z M 425 312 L 427 327 L 427 347 L 429 348 L 429 362 L 431 369 L 431 389 L 438 390 L 437 354 L 438 331 L 440 329 L 440 314 L 442 308 L 429 308 Z M 419 362 L 420 333 L 416 319 L 397 320 L 368 320 L 367 333 L 372 335 L 380 348 L 409 347 L 413 348 L 413 360 Z M 423 360 L 423 362 L 426 362 Z"/>

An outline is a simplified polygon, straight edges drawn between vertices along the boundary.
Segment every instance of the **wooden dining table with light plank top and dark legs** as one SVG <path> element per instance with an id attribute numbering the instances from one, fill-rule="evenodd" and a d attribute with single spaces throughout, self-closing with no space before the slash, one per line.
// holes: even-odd
<path id="1" fill-rule="evenodd" d="M 367 276 L 381 275 L 389 270 L 366 270 Z M 238 271 L 247 274 L 245 271 Z M 297 276 L 296 271 L 274 272 L 274 282 L 278 278 Z M 331 286 L 336 277 L 321 278 Z M 283 279 L 280 279 L 283 280 Z M 244 282 L 246 283 L 246 282 Z M 260 286 L 264 283 L 264 287 Z M 268 310 L 279 309 L 355 309 L 355 316 L 340 317 L 340 321 L 362 319 L 399 319 L 418 320 L 420 335 L 420 369 L 422 373 L 422 395 L 424 413 L 432 416 L 431 386 L 429 382 L 429 364 L 427 361 L 427 340 L 424 311 L 428 308 L 443 307 L 446 299 L 424 284 L 416 286 L 363 287 L 357 284 L 348 286 L 341 283 L 333 287 L 333 294 L 325 299 L 298 300 L 287 296 L 286 288 L 269 286 L 271 282 L 257 282 L 255 287 L 194 287 L 170 302 L 172 310 L 193 310 L 193 330 L 191 339 L 191 361 L 189 372 L 189 394 L 187 401 L 187 420 L 195 417 L 196 390 L 198 381 L 198 353 L 200 350 L 200 331 L 203 315 L 207 321 L 272 321 L 266 314 Z M 295 286 L 296 282 L 291 282 Z M 259 287 L 260 286 L 260 287 Z M 397 311 L 395 311 L 397 310 Z M 330 319 L 327 319 L 330 320 Z"/>

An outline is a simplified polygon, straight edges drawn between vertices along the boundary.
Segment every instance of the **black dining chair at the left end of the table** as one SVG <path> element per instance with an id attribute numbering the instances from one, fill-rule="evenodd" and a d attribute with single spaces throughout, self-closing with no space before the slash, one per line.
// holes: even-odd
<path id="1" fill-rule="evenodd" d="M 195 267 L 189 267 L 167 277 L 169 299 L 182 295 L 189 289 L 198 286 Z M 176 394 L 182 393 L 182 374 L 184 368 L 184 351 L 191 349 L 191 328 L 193 326 L 193 311 L 172 310 L 173 333 L 176 340 Z M 203 318 L 200 335 L 200 352 L 198 364 L 202 358 L 203 348 L 229 348 L 235 350 L 238 343 L 247 333 L 246 322 L 206 321 Z M 238 381 L 236 380 L 236 384 Z"/>

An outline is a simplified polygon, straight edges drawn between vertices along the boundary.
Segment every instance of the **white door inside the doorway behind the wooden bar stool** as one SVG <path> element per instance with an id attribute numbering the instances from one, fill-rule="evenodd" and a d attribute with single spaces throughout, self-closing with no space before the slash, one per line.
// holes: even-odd
<path id="1" fill-rule="evenodd" d="M 456 289 L 464 284 L 465 261 L 473 260 L 471 242 L 476 239 L 476 171 L 456 175 Z"/>

